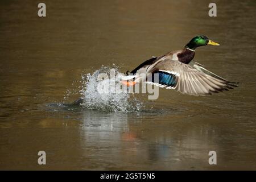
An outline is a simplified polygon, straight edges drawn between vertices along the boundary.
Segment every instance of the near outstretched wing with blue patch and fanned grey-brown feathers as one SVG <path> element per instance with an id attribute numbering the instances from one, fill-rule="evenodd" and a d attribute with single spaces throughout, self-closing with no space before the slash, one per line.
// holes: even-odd
<path id="1" fill-rule="evenodd" d="M 175 89 L 178 92 L 194 96 L 205 96 L 233 89 L 238 84 L 217 76 L 198 63 L 191 67 L 191 65 L 176 60 L 160 61 L 151 70 L 151 73 L 152 79 L 148 78 L 148 84 Z M 158 79 L 154 73 L 158 73 Z"/>

